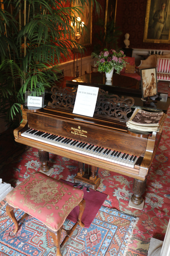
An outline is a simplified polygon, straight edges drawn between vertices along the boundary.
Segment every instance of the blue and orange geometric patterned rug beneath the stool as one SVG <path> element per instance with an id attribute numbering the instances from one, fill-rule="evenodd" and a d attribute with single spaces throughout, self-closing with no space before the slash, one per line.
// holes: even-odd
<path id="1" fill-rule="evenodd" d="M 0 255 L 55 256 L 53 239 L 46 226 L 37 219 L 27 217 L 22 221 L 18 233 L 13 234 L 14 224 L 6 215 L 6 204 L 2 201 L 0 208 Z M 23 214 L 23 211 L 15 210 L 17 219 Z M 90 227 L 81 229 L 78 226 L 61 249 L 61 253 L 64 256 L 122 256 L 137 221 L 136 217 L 101 206 Z M 73 224 L 66 219 L 64 228 L 69 229 Z M 61 239 L 64 239 L 64 234 Z"/>

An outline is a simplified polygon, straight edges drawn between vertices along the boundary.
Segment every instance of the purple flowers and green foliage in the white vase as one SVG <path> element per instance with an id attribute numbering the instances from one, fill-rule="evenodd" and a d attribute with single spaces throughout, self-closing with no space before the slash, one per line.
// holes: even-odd
<path id="1" fill-rule="evenodd" d="M 123 51 L 116 52 L 113 49 L 104 49 L 99 55 L 93 52 L 92 56 L 99 59 L 96 63 L 99 72 L 110 73 L 112 68 L 114 68 L 116 73 L 120 74 L 120 71 L 126 66 L 127 63 L 124 59 L 126 55 Z"/>

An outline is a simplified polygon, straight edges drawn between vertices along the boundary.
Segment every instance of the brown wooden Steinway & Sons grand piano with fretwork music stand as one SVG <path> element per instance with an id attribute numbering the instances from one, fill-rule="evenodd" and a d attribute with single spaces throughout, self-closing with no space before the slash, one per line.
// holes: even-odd
<path id="1" fill-rule="evenodd" d="M 46 93 L 48 103 L 44 108 L 21 105 L 23 122 L 14 130 L 15 141 L 38 148 L 41 171 L 47 175 L 53 170 L 48 164 L 49 152 L 78 161 L 75 186 L 86 186 L 87 191 L 100 185 L 99 168 L 134 178 L 129 206 L 142 209 L 142 194 L 163 125 L 159 132 L 140 132 L 128 129 L 126 122 L 136 107 L 166 113 L 170 99 L 158 93 L 156 101 L 145 103 L 140 90 L 103 85 L 103 75 L 99 76 L 100 83 L 86 76 L 81 81 L 66 81 L 64 88 L 53 86 Z M 99 87 L 93 117 L 72 113 L 78 84 Z M 89 173 L 85 172 L 85 164 L 91 166 Z"/>

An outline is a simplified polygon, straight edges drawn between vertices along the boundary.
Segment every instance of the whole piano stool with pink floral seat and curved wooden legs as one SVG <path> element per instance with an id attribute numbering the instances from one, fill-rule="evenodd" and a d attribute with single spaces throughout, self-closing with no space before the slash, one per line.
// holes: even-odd
<path id="1" fill-rule="evenodd" d="M 13 233 L 16 234 L 19 230 L 19 223 L 27 215 L 31 215 L 46 225 L 57 248 L 56 256 L 62 256 L 60 248 L 72 236 L 77 225 L 84 227 L 84 223 L 81 222 L 86 205 L 83 195 L 83 191 L 78 188 L 48 177 L 46 174 L 33 173 L 6 196 L 8 202 L 6 212 L 15 224 Z M 77 222 L 70 230 L 63 229 L 64 221 L 77 205 L 80 206 Z M 26 212 L 18 221 L 14 208 Z M 60 244 L 62 231 L 66 237 Z"/>

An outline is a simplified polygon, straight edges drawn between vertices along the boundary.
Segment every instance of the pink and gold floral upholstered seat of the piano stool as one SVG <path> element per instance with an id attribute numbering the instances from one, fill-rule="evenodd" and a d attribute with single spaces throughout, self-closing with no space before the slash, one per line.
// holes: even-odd
<path id="1" fill-rule="evenodd" d="M 71 210 L 83 199 L 83 191 L 35 172 L 6 196 L 8 204 L 20 208 L 57 231 Z"/>

